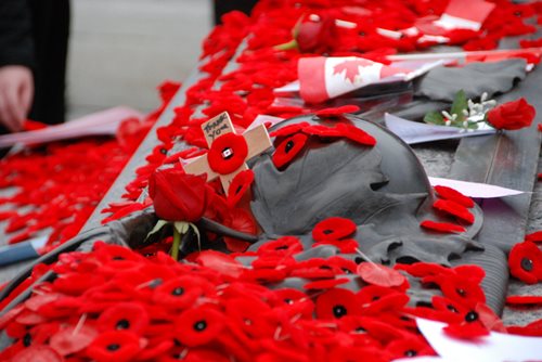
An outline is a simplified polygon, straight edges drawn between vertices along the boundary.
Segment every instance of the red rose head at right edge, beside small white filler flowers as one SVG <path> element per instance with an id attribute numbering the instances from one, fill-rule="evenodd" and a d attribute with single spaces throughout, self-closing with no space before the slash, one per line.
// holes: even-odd
<path id="1" fill-rule="evenodd" d="M 537 111 L 521 98 L 494 107 L 488 113 L 488 121 L 496 129 L 515 130 L 529 127 Z"/>

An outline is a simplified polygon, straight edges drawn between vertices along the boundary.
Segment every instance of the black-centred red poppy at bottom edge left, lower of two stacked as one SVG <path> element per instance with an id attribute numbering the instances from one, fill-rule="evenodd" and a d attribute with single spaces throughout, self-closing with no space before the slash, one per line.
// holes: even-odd
<path id="1" fill-rule="evenodd" d="M 99 335 L 87 348 L 87 355 L 101 361 L 132 361 L 141 350 L 139 337 L 129 331 L 108 331 Z"/>

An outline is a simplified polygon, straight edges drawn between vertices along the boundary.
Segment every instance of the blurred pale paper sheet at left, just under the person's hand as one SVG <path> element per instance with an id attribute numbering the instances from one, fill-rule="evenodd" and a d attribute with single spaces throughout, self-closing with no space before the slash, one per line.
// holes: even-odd
<path id="1" fill-rule="evenodd" d="M 37 144 L 85 135 L 115 134 L 120 122 L 129 117 L 143 118 L 143 115 L 130 107 L 118 106 L 44 129 L 2 134 L 0 148 L 17 143 Z"/>

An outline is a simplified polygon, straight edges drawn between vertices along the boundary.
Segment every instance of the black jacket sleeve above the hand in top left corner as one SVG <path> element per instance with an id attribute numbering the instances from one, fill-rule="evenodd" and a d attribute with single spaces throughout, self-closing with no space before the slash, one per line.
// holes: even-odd
<path id="1" fill-rule="evenodd" d="M 26 0 L 0 0 L 0 66 L 34 67 L 31 14 Z"/>

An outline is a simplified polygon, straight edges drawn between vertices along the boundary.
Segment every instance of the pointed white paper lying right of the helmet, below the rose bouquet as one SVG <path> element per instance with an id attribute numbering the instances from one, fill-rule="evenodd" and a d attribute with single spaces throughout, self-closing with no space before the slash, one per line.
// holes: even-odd
<path id="1" fill-rule="evenodd" d="M 495 186 L 487 183 L 467 182 L 433 177 L 429 177 L 429 183 L 431 184 L 431 186 L 441 185 L 452 188 L 461 192 L 463 195 L 475 198 L 498 198 L 525 193 L 524 191 Z"/>

